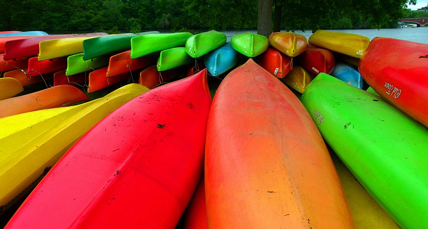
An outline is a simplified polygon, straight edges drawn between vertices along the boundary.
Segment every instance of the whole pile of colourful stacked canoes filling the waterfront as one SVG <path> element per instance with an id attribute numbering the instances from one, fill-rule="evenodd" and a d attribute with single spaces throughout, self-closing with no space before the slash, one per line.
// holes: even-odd
<path id="1" fill-rule="evenodd" d="M 426 46 L 322 30 L 44 40 L 19 57 L 36 70 L 0 78 L 0 210 L 40 182 L 8 228 L 426 227 Z M 57 84 L 13 97 L 23 78 Z"/>

